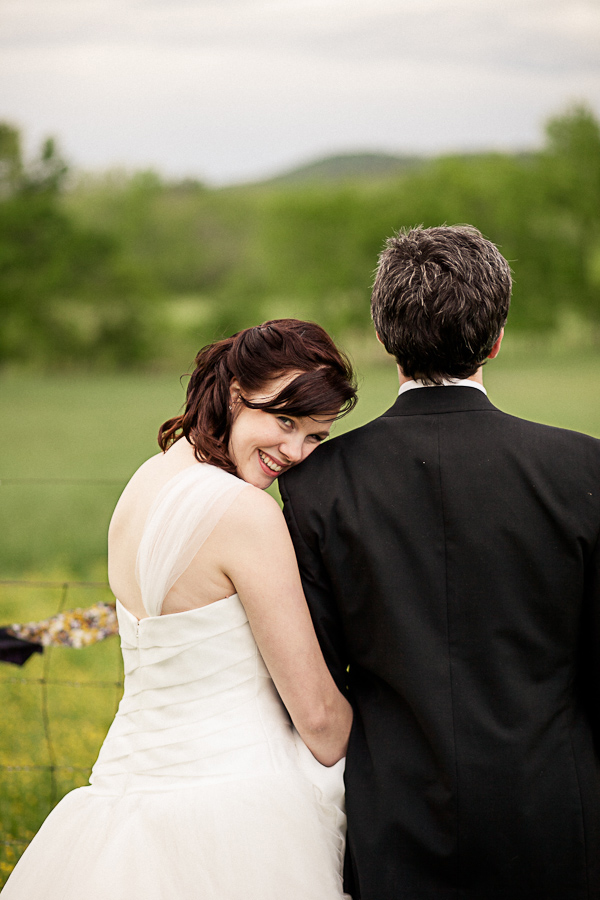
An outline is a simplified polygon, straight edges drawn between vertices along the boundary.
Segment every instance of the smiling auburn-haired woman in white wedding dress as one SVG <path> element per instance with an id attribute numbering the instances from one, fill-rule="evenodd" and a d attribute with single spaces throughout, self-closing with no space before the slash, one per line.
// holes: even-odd
<path id="1" fill-rule="evenodd" d="M 352 713 L 264 492 L 356 403 L 318 325 L 205 347 L 109 530 L 125 665 L 90 777 L 3 900 L 336 900 Z"/>

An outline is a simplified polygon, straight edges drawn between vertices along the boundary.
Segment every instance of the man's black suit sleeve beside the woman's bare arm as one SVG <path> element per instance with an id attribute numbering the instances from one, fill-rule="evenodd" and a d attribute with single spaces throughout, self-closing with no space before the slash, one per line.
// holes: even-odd
<path id="1" fill-rule="evenodd" d="M 294 505 L 283 479 L 279 490 L 283 513 L 290 531 L 302 586 L 325 662 L 342 693 L 348 691 L 348 658 L 344 632 L 330 578 L 318 551 L 317 535 L 307 526 L 301 528 Z"/>

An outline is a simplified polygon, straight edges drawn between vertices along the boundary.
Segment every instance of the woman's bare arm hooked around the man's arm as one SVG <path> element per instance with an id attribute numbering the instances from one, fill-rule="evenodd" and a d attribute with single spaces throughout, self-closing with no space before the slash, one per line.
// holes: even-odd
<path id="1" fill-rule="evenodd" d="M 249 488 L 213 534 L 219 565 L 296 729 L 320 763 L 334 765 L 346 753 L 352 709 L 323 659 L 283 513 L 268 494 Z"/>

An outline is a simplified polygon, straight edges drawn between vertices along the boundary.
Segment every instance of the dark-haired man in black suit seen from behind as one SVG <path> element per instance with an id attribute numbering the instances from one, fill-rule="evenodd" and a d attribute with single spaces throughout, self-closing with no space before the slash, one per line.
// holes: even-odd
<path id="1" fill-rule="evenodd" d="M 355 709 L 355 900 L 600 898 L 600 441 L 488 400 L 510 292 L 474 228 L 390 239 L 398 399 L 280 482 Z"/>

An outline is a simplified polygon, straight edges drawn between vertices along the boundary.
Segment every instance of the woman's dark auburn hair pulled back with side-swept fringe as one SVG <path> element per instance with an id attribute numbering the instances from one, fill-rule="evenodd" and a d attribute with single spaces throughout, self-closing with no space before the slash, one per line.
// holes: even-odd
<path id="1" fill-rule="evenodd" d="M 314 322 L 273 319 L 203 347 L 195 360 L 182 415 L 158 432 L 161 450 L 185 437 L 196 459 L 236 474 L 227 452 L 232 410 L 230 386 L 240 385 L 239 400 L 274 415 L 331 415 L 339 418 L 357 402 L 356 383 L 347 357 Z M 253 403 L 245 395 L 269 392 L 269 383 L 298 371 L 274 397 Z"/>

